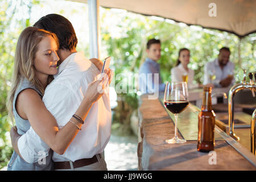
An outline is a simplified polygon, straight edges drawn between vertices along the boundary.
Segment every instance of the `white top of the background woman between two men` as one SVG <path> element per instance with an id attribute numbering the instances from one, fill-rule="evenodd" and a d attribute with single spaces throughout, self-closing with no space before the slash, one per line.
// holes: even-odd
<path id="1" fill-rule="evenodd" d="M 171 77 L 172 81 L 183 81 L 182 80 L 182 75 L 186 73 L 188 75 L 188 88 L 197 88 L 199 85 L 198 84 L 193 84 L 195 72 L 188 68 L 188 71 L 183 67 L 183 65 L 180 63 L 176 67 L 171 69 Z"/>

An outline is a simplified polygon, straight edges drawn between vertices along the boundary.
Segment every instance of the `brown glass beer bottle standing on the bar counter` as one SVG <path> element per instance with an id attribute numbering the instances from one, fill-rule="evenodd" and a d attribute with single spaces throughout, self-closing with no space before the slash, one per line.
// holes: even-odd
<path id="1" fill-rule="evenodd" d="M 212 88 L 204 87 L 203 104 L 198 115 L 197 151 L 209 152 L 214 150 L 215 113 L 212 110 Z"/>

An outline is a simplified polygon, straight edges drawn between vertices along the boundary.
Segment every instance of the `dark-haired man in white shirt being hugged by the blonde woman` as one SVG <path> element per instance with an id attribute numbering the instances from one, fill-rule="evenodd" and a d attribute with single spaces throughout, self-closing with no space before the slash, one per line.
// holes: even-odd
<path id="1" fill-rule="evenodd" d="M 76 52 L 77 38 L 68 19 L 49 14 L 34 26 L 55 33 L 59 39 L 59 70 L 47 86 L 43 102 L 61 129 L 81 104 L 88 84 L 97 80 L 100 71 L 90 60 L 85 59 L 83 53 Z M 109 94 L 105 93 L 94 103 L 82 130 L 65 153 L 59 155 L 53 152 L 55 170 L 106 170 L 101 153 L 110 139 L 111 117 Z M 18 140 L 20 155 L 28 163 L 38 162 L 42 154 L 48 155 L 49 149 L 32 127 Z"/>

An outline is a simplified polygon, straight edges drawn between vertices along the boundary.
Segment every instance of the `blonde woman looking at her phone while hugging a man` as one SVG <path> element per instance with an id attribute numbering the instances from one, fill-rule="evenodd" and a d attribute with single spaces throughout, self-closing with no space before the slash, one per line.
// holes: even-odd
<path id="1" fill-rule="evenodd" d="M 15 129 L 19 135 L 26 133 L 32 126 L 53 151 L 63 154 L 81 130 L 82 121 L 94 102 L 102 96 L 97 92 L 98 85 L 104 88 L 109 84 L 110 71 L 102 80 L 88 85 L 81 105 L 74 113 L 76 117 L 71 117 L 59 130 L 56 119 L 42 101 L 46 86 L 53 80 L 52 75 L 57 73 L 58 48 L 55 34 L 35 27 L 23 30 L 16 46 L 13 81 L 7 107 L 11 118 L 15 118 Z M 50 170 L 51 154 L 50 150 L 44 163 L 30 164 L 14 151 L 8 170 Z"/>

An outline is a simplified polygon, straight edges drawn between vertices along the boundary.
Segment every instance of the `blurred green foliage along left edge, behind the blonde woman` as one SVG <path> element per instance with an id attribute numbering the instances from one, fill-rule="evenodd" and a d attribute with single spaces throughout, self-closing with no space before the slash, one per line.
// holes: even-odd
<path id="1" fill-rule="evenodd" d="M 6 98 L 11 85 L 16 42 L 20 32 L 30 26 L 30 10 L 38 1 L 4 1 L 0 9 L 0 168 L 7 165 L 13 153 L 9 131 L 10 119 L 7 117 Z M 28 10 L 28 18 L 17 15 Z"/>

